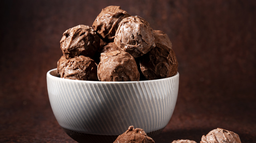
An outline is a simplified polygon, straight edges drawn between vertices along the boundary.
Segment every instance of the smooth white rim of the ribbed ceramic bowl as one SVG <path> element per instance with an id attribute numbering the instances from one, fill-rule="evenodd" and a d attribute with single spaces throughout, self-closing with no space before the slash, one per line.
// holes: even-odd
<path id="1" fill-rule="evenodd" d="M 46 76 L 47 78 L 53 78 L 55 80 L 61 80 L 61 81 L 66 81 L 66 82 L 78 82 L 78 83 L 104 83 L 104 84 L 117 84 L 117 83 L 148 83 L 148 82 L 154 82 L 154 81 L 161 81 L 161 80 L 167 80 L 167 79 L 171 79 L 171 78 L 177 78 L 179 77 L 179 72 L 177 71 L 177 73 L 171 77 L 167 77 L 167 78 L 161 78 L 161 79 L 154 79 L 154 80 L 142 80 L 142 81 L 86 81 L 86 80 L 74 80 L 74 79 L 66 79 L 66 78 L 60 78 L 60 77 L 56 77 L 54 75 L 52 75 L 51 73 L 53 71 L 56 71 L 57 68 L 52 69 L 50 71 L 47 72 Z"/>

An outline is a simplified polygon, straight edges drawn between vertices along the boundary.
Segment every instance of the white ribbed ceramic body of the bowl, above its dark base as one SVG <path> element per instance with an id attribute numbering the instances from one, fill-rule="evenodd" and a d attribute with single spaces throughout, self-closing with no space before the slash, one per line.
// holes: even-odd
<path id="1" fill-rule="evenodd" d="M 47 72 L 47 88 L 59 125 L 68 135 L 78 133 L 70 135 L 73 139 L 79 135 L 115 138 L 131 125 L 152 137 L 171 119 L 179 73 L 158 80 L 101 82 L 59 78 L 53 69 Z"/>

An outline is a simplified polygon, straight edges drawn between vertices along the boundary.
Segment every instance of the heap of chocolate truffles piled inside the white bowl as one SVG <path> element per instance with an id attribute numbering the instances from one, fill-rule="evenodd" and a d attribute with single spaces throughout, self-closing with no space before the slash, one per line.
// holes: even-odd
<path id="1" fill-rule="evenodd" d="M 178 70 L 168 36 L 119 6 L 99 13 L 92 27 L 78 25 L 60 40 L 61 78 L 90 81 L 139 81 L 167 78 Z"/>

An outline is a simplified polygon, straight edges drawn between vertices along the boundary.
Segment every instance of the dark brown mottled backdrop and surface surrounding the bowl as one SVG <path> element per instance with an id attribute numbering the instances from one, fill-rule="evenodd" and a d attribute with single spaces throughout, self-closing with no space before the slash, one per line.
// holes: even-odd
<path id="1" fill-rule="evenodd" d="M 121 6 L 168 34 L 180 87 L 173 116 L 156 143 L 191 139 L 217 127 L 256 140 L 256 2 L 253 0 L 1 1 L 0 142 L 75 142 L 58 125 L 46 72 L 60 39 L 92 26 L 102 8 Z"/>

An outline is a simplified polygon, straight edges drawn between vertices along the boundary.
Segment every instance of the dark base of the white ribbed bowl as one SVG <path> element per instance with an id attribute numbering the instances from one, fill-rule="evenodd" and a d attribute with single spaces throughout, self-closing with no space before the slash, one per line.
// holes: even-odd
<path id="1" fill-rule="evenodd" d="M 104 143 L 113 143 L 118 135 L 93 135 L 93 134 L 85 134 L 85 133 L 78 133 L 75 131 L 71 131 L 65 128 L 62 128 L 64 132 L 69 135 L 72 139 L 79 143 L 98 143 L 98 142 L 104 142 Z M 160 134 L 160 132 L 164 128 L 153 131 L 150 133 L 147 133 L 147 135 L 151 138 L 155 137 L 156 135 Z M 154 138 L 153 138 L 154 139 Z"/>

